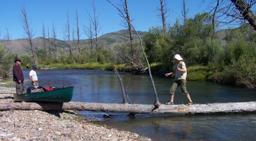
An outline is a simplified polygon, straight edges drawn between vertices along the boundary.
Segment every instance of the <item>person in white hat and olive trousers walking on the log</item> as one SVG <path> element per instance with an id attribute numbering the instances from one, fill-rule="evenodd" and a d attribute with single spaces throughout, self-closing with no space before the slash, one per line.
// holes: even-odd
<path id="1" fill-rule="evenodd" d="M 169 76 L 171 74 L 175 73 L 175 78 L 174 78 L 174 83 L 172 84 L 172 87 L 170 89 L 170 94 L 171 94 L 171 100 L 165 103 L 166 105 L 173 105 L 174 102 L 174 93 L 175 90 L 177 89 L 178 86 L 181 86 L 181 91 L 184 95 L 187 96 L 188 98 L 188 103 L 186 104 L 187 106 L 192 105 L 193 102 L 190 98 L 190 95 L 188 94 L 187 87 L 186 87 L 186 77 L 187 77 L 187 68 L 185 63 L 183 62 L 183 59 L 179 54 L 176 54 L 174 57 L 175 62 L 177 63 L 177 68 L 175 71 L 171 73 L 166 73 L 165 76 Z"/>

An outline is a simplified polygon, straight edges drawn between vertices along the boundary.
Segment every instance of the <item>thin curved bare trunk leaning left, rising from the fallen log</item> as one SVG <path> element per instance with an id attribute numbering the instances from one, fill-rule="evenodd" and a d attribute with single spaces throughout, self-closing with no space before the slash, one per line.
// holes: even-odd
<path id="1" fill-rule="evenodd" d="M 112 4 L 112 5 L 122 14 L 122 16 L 125 18 L 125 20 L 126 20 L 127 22 L 129 22 L 129 21 L 127 20 L 127 18 L 125 17 L 124 13 L 123 13 L 118 7 L 116 7 L 111 1 L 109 1 L 109 0 L 107 0 L 107 1 L 108 1 L 110 4 Z M 130 24 L 131 24 L 131 23 L 130 23 Z M 136 35 L 138 36 L 138 38 L 139 38 L 139 40 L 140 40 L 140 47 L 141 47 L 141 50 L 142 50 L 143 55 L 144 55 L 144 57 L 145 57 L 145 59 L 146 59 L 146 62 L 147 62 L 147 67 L 148 67 L 148 69 L 149 69 L 149 76 L 150 76 L 150 80 L 151 80 L 151 83 L 152 83 L 152 86 L 153 86 L 153 90 L 154 90 L 154 95 L 155 95 L 154 105 L 156 106 L 156 108 L 158 108 L 158 107 L 160 107 L 161 103 L 159 102 L 159 99 L 158 99 L 158 96 L 157 96 L 157 93 L 156 93 L 156 87 L 155 87 L 155 85 L 154 85 L 154 80 L 153 80 L 153 77 L 152 77 L 152 74 L 151 74 L 150 65 L 149 65 L 149 60 L 147 59 L 147 55 L 146 55 L 146 53 L 145 53 L 145 51 L 144 51 L 144 47 L 143 47 L 142 39 L 140 38 L 140 35 L 139 35 L 138 32 L 135 30 L 134 26 L 132 26 L 132 24 L 131 24 L 131 27 L 132 27 L 132 29 L 135 31 Z"/>

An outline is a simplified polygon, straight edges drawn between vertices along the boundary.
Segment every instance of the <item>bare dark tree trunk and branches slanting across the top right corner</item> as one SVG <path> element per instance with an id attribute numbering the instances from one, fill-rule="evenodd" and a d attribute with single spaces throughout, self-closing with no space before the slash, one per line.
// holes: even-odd
<path id="1" fill-rule="evenodd" d="M 251 10 L 256 0 L 212 0 L 212 3 L 217 4 L 216 7 L 208 7 L 209 13 L 215 13 L 216 22 L 238 25 L 247 21 L 256 30 L 256 16 Z"/>

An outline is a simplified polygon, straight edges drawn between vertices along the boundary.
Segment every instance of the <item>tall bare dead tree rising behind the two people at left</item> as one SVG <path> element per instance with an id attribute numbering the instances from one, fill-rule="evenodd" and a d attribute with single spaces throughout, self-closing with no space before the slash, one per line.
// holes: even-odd
<path id="1" fill-rule="evenodd" d="M 20 17 L 20 20 L 21 20 L 21 23 L 22 23 L 22 27 L 23 27 L 23 29 L 26 33 L 25 38 L 27 38 L 29 40 L 30 49 L 31 49 L 32 58 L 33 58 L 33 63 L 36 64 L 34 47 L 32 45 L 33 30 L 32 30 L 32 28 L 30 28 L 30 24 L 28 22 L 28 17 L 27 17 L 25 6 L 22 6 L 21 13 L 22 13 L 22 15 Z"/>

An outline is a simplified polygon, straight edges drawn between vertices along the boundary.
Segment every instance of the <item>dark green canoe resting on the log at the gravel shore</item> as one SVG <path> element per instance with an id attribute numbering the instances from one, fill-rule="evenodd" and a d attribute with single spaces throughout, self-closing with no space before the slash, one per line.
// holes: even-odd
<path id="1" fill-rule="evenodd" d="M 38 93 L 13 94 L 14 102 L 70 102 L 74 87 L 65 87 Z"/>

